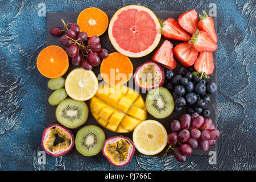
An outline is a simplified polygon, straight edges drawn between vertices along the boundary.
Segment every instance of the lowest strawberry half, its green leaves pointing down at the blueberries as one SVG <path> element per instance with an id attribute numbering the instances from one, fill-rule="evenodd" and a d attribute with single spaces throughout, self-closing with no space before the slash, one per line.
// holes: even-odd
<path id="1" fill-rule="evenodd" d="M 214 71 L 212 52 L 200 52 L 199 56 L 195 61 L 194 68 L 198 73 L 201 74 L 201 78 L 208 78 L 208 75 L 212 74 Z M 196 75 L 196 72 L 193 72 L 193 75 Z"/>

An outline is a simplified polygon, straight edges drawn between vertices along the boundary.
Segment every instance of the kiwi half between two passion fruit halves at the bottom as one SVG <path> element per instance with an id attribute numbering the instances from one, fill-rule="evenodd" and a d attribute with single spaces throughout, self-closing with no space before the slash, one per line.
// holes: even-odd
<path id="1" fill-rule="evenodd" d="M 95 125 L 82 127 L 75 139 L 76 150 L 84 156 L 93 156 L 102 150 L 105 143 L 104 131 Z"/>

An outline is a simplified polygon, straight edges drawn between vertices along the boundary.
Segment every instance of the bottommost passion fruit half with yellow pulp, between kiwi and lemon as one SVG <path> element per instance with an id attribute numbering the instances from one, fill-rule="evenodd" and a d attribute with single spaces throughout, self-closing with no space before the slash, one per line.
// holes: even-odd
<path id="1" fill-rule="evenodd" d="M 135 146 L 130 138 L 122 135 L 105 140 L 103 155 L 113 166 L 123 167 L 130 163 L 135 152 Z"/>

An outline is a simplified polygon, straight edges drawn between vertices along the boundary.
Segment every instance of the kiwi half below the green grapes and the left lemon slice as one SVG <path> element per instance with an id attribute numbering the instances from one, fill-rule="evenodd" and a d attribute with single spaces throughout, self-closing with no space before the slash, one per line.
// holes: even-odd
<path id="1" fill-rule="evenodd" d="M 86 122 L 88 113 L 88 106 L 84 101 L 68 98 L 57 106 L 56 119 L 61 125 L 75 129 Z"/>

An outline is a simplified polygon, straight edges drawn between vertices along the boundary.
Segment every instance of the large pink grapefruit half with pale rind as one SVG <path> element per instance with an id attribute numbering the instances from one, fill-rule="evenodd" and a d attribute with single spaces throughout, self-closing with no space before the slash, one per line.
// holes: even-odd
<path id="1" fill-rule="evenodd" d="M 119 9 L 109 23 L 109 39 L 123 55 L 142 57 L 152 52 L 161 39 L 161 26 L 147 7 L 130 5 Z"/>

